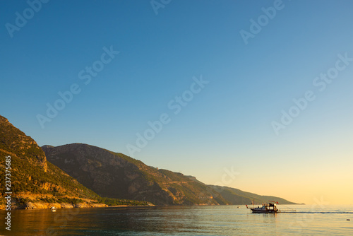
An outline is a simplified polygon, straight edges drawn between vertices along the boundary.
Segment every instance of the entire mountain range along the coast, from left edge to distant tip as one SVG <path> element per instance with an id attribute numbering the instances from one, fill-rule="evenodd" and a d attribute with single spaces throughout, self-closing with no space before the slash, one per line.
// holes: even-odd
<path id="1" fill-rule="evenodd" d="M 87 144 L 40 148 L 1 116 L 0 155 L 1 176 L 5 176 L 6 157 L 11 156 L 11 197 L 18 208 L 149 204 L 145 201 L 157 205 L 249 204 L 252 199 L 290 203 L 274 196 L 206 185 L 196 177 L 159 170 Z M 0 184 L 1 207 L 5 205 L 5 187 Z"/>

